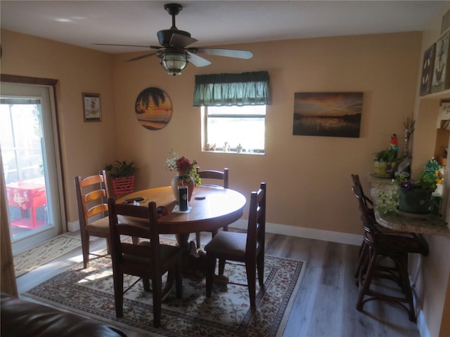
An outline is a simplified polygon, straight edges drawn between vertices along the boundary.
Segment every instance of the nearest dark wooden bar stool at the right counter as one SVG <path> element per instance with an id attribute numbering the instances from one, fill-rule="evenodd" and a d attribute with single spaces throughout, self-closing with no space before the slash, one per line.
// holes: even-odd
<path id="1" fill-rule="evenodd" d="M 359 294 L 356 309 L 362 311 L 364 304 L 370 300 L 386 300 L 401 305 L 408 311 L 411 322 L 416 322 L 413 293 L 409 284 L 408 254 L 419 253 L 427 256 L 428 244 L 420 234 L 412 234 L 411 237 L 380 232 L 375 218 L 364 202 L 361 188 L 354 185 L 352 190 L 359 203 L 364 227 L 364 242 L 366 243 L 366 254 L 358 273 Z M 391 260 L 393 265 L 383 263 L 386 258 Z M 380 287 L 375 289 L 373 284 L 376 278 L 396 282 L 403 296 L 394 296 L 392 292 L 383 292 Z"/>

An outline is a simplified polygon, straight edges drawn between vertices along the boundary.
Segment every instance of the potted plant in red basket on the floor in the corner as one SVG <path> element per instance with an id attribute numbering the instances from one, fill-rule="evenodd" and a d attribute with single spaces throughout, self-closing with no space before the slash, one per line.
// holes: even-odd
<path id="1" fill-rule="evenodd" d="M 122 195 L 129 194 L 134 190 L 134 173 L 138 168 L 134 166 L 134 161 L 115 161 L 113 164 L 106 164 L 105 171 L 109 173 L 111 178 L 111 186 L 113 187 L 116 199 Z"/>

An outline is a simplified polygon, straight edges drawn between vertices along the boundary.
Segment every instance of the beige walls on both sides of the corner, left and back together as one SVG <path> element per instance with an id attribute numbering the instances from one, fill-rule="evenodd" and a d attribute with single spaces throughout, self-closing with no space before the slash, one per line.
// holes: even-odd
<path id="1" fill-rule="evenodd" d="M 413 111 L 421 34 L 234 46 L 251 50 L 255 57 L 210 56 L 212 65 L 189 65 L 180 77 L 165 74 L 155 57 L 123 62 L 136 54 L 111 56 L 5 31 L 1 40 L 2 73 L 60 81 L 69 222 L 77 220 L 73 176 L 95 173 L 114 159 L 132 160 L 141 168 L 137 188 L 167 185 L 172 173 L 164 163 L 174 149 L 203 168 L 228 166 L 231 187 L 245 195 L 265 180 L 269 223 L 359 234 L 349 174 L 370 173 L 373 152 L 388 145 L 391 133 L 402 133 L 403 121 Z M 200 110 L 192 107 L 194 75 L 257 70 L 270 75 L 266 154 L 201 152 Z M 166 91 L 174 107 L 172 120 L 159 131 L 143 128 L 134 114 L 137 95 L 149 86 Z M 82 119 L 81 94 L 86 91 L 101 93 L 101 123 Z M 299 91 L 364 92 L 361 138 L 293 136 L 293 97 Z"/>

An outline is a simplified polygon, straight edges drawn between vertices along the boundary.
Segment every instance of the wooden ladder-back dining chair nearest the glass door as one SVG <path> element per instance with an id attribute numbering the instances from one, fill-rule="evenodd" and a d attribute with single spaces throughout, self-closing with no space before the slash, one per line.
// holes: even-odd
<path id="1" fill-rule="evenodd" d="M 75 177 L 77 194 L 79 232 L 82 237 L 83 266 L 89 267 L 89 255 L 98 254 L 89 251 L 89 237 L 104 237 L 107 251 L 110 249 L 110 227 L 108 223 L 108 204 L 110 196 L 105 171 L 95 176 Z"/>

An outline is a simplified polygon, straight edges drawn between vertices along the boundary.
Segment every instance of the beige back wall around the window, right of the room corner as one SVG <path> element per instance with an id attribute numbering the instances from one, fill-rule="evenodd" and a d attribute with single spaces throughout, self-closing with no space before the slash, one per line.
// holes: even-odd
<path id="1" fill-rule="evenodd" d="M 373 168 L 373 152 L 403 132 L 413 112 L 420 59 L 420 33 L 303 39 L 231 46 L 252 60 L 209 57 L 212 65 L 189 65 L 180 77 L 165 74 L 156 58 L 123 62 L 115 56 L 114 88 L 120 158 L 141 167 L 139 187 L 167 185 L 165 159 L 174 149 L 203 168 L 230 169 L 231 187 L 248 195 L 268 185 L 270 223 L 361 233 L 350 173 Z M 192 107 L 195 74 L 267 70 L 271 105 L 266 116 L 266 154 L 200 152 L 200 108 Z M 172 100 L 169 125 L 148 131 L 134 115 L 134 101 L 156 86 Z M 293 136 L 293 98 L 298 91 L 364 92 L 361 138 Z M 342 211 L 345 210 L 345 211 Z"/>

